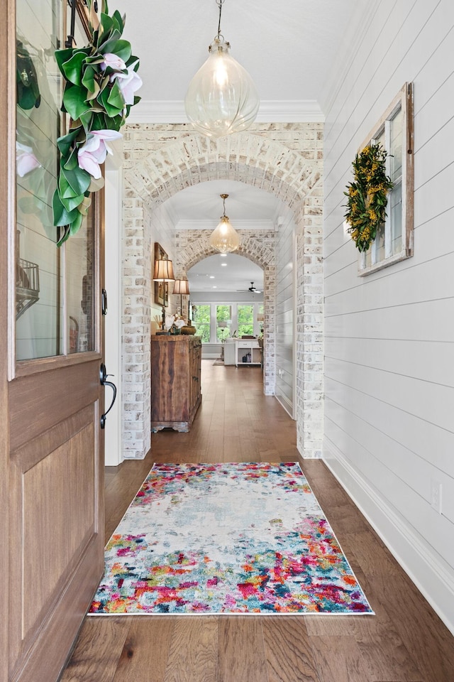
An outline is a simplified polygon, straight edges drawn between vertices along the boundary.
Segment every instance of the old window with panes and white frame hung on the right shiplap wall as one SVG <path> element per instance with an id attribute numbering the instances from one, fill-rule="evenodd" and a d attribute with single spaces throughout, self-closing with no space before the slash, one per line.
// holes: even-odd
<path id="1" fill-rule="evenodd" d="M 388 194 L 387 218 L 370 249 L 358 256 L 359 274 L 367 275 L 413 256 L 413 87 L 406 83 L 382 121 L 367 138 L 387 150 L 387 175 L 394 187 Z"/>

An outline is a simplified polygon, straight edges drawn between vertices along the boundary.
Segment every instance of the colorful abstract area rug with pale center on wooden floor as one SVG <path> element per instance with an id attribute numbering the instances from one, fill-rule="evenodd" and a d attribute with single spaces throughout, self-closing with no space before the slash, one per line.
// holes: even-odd
<path id="1" fill-rule="evenodd" d="M 154 465 L 90 613 L 373 612 L 299 465 L 229 463 Z"/>

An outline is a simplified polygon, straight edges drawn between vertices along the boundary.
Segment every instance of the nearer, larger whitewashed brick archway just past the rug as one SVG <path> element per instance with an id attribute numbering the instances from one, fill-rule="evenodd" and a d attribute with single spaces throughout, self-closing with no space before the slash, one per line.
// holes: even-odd
<path id="1" fill-rule="evenodd" d="M 129 348 L 135 352 L 125 354 L 123 377 L 128 380 L 131 371 L 138 372 L 143 390 L 140 404 L 137 403 L 138 391 L 135 391 L 134 420 L 127 418 L 128 395 L 125 396 L 125 430 L 132 430 L 124 443 L 127 457 L 144 456 L 150 445 L 148 333 L 153 212 L 189 185 L 224 178 L 266 190 L 294 212 L 298 264 L 297 445 L 306 457 L 321 455 L 321 139 L 321 124 L 255 124 L 250 131 L 215 141 L 194 134 L 184 125 L 127 126 L 123 165 L 124 273 L 129 276 L 134 271 L 135 282 L 139 284 L 124 292 L 131 299 L 131 305 L 125 307 L 124 336 L 131 341 Z M 242 242 L 243 255 L 258 258 L 260 264 L 260 256 L 254 250 L 257 246 L 253 242 Z M 181 269 L 186 270 L 190 263 L 200 259 L 200 255 L 200 252 L 196 256 L 190 255 L 187 251 Z M 206 255 L 210 253 L 206 251 Z M 262 255 L 263 260 L 270 257 L 265 252 Z M 128 310 L 138 313 L 136 319 L 140 320 L 131 328 L 128 327 L 131 322 Z"/>

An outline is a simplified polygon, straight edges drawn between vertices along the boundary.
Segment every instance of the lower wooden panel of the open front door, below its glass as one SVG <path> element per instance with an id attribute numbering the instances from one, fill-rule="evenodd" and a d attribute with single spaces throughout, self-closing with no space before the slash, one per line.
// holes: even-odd
<path id="1" fill-rule="evenodd" d="M 10 631 L 11 664 L 52 617 L 84 555 L 102 570 L 96 550 L 102 536 L 97 412 L 96 405 L 88 406 L 11 453 L 11 609 L 21 615 Z"/>

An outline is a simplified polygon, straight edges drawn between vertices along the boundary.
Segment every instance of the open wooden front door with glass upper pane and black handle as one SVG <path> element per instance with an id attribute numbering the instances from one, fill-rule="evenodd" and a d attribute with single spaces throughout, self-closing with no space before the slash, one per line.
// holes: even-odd
<path id="1" fill-rule="evenodd" d="M 0 680 L 54 682 L 104 568 L 102 220 L 57 247 L 67 3 L 0 10 Z"/>

